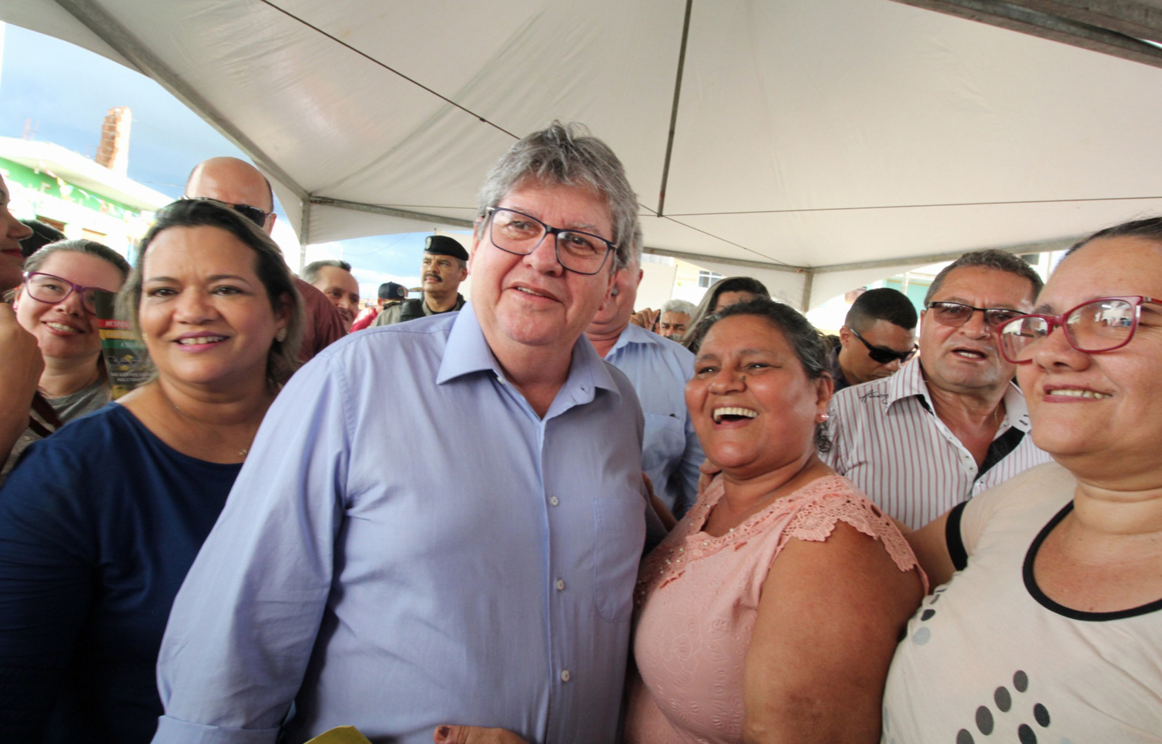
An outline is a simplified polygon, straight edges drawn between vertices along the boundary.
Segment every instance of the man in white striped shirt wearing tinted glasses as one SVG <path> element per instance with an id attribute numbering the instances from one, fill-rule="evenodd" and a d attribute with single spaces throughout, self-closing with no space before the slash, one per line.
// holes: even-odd
<path id="1" fill-rule="evenodd" d="M 1028 434 L 995 329 L 1031 313 L 1041 278 L 1012 253 L 973 251 L 924 298 L 920 353 L 897 374 L 835 393 L 825 459 L 894 518 L 919 528 L 1049 456 Z"/>

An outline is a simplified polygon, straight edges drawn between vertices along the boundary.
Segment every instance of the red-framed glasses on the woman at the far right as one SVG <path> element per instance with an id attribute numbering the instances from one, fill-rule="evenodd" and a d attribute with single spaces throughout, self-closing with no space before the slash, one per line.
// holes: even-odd
<path id="1" fill-rule="evenodd" d="M 1000 355 L 1012 364 L 1033 360 L 1037 343 L 1060 327 L 1069 345 L 1083 353 L 1121 349 L 1134 337 L 1142 305 L 1160 305 L 1140 294 L 1082 302 L 1061 315 L 1018 315 L 997 328 Z"/>

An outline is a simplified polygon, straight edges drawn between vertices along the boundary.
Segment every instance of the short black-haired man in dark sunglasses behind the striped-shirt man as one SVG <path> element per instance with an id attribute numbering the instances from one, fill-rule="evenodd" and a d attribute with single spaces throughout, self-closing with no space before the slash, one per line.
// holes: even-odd
<path id="1" fill-rule="evenodd" d="M 855 299 L 831 351 L 835 392 L 899 371 L 916 353 L 916 308 L 903 292 L 868 289 Z"/>

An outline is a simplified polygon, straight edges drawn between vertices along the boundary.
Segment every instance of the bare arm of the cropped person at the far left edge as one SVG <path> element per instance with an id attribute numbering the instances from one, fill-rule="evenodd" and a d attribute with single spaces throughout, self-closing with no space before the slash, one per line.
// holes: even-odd
<path id="1" fill-rule="evenodd" d="M 21 328 L 9 305 L 0 302 L 0 463 L 8 459 L 16 439 L 28 428 L 36 385 L 44 358 L 36 336 Z"/>

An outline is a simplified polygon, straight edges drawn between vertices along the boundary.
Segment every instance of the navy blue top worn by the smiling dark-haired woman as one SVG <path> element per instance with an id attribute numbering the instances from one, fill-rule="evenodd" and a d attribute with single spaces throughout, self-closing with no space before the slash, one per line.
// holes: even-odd
<path id="1" fill-rule="evenodd" d="M 109 403 L 0 488 L 0 742 L 149 742 L 170 606 L 242 465 Z"/>

